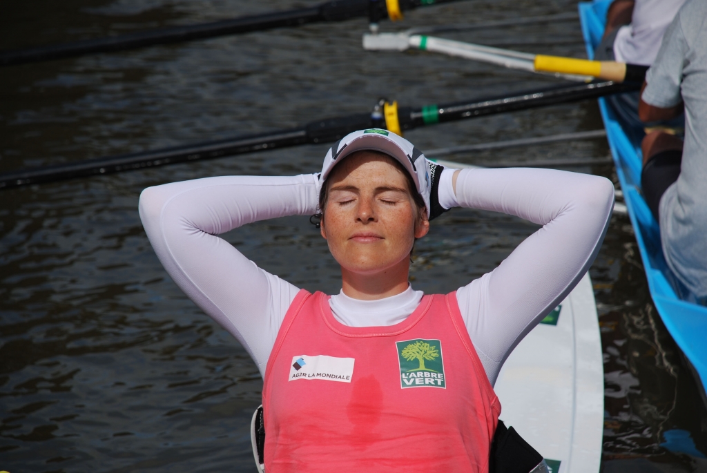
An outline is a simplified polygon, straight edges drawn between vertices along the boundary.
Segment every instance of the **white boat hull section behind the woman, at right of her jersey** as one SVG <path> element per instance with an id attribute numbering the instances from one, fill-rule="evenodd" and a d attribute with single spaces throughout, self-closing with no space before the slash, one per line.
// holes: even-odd
<path id="1" fill-rule="evenodd" d="M 557 325 L 538 325 L 515 347 L 494 390 L 501 420 L 549 460 L 553 473 L 599 472 L 604 370 L 588 274 L 561 303 Z"/>

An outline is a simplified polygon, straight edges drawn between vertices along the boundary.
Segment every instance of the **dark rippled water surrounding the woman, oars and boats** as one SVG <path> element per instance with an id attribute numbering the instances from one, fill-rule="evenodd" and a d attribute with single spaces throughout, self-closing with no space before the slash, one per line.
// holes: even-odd
<path id="1" fill-rule="evenodd" d="M 311 4 L 5 2 L 0 48 Z M 409 13 L 404 27 L 575 10 L 572 1 L 475 0 Z M 554 81 L 419 52 L 366 53 L 365 28 L 363 20 L 309 25 L 0 69 L 0 171 L 292 127 L 370 110 L 381 95 L 423 105 Z M 448 37 L 584 56 L 576 21 Z M 407 137 L 424 150 L 600 127 L 590 102 Z M 168 279 L 137 201 L 141 189 L 162 182 L 312 172 L 325 150 L 303 146 L 0 192 L 0 469 L 254 471 L 247 424 L 262 388 L 257 369 Z M 594 140 L 450 159 L 607 154 L 605 141 Z M 616 182 L 609 165 L 575 170 Z M 499 214 L 453 211 L 418 243 L 414 285 L 451 291 L 466 284 L 535 228 Z M 304 218 L 256 223 L 226 238 L 293 284 L 338 291 L 337 267 Z M 703 462 L 660 446 L 667 431 L 682 429 L 707 452 L 706 416 L 650 302 L 626 218 L 614 217 L 591 275 L 604 345 L 604 471 L 700 469 Z"/>

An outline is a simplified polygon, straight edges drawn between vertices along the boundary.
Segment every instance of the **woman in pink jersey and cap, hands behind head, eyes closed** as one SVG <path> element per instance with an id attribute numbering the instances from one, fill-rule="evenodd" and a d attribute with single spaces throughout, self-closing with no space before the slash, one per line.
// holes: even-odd
<path id="1" fill-rule="evenodd" d="M 267 472 L 485 472 L 498 371 L 590 267 L 613 199 L 591 175 L 443 169 L 373 129 L 332 146 L 322 173 L 151 187 L 140 213 L 170 276 L 264 377 Z M 452 206 L 543 227 L 480 279 L 424 295 L 408 282 L 414 240 Z M 215 236 L 317 209 L 341 265 L 335 296 L 300 291 Z"/>

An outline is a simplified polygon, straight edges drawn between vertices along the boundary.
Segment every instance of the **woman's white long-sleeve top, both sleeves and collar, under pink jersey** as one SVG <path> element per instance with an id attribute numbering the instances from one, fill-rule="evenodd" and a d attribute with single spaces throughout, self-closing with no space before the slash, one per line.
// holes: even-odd
<path id="1" fill-rule="evenodd" d="M 149 187 L 140 197 L 143 225 L 168 274 L 243 344 L 261 375 L 299 288 L 260 269 L 217 235 L 267 218 L 314 214 L 316 182 L 316 175 L 209 177 Z M 496 269 L 457 290 L 464 324 L 493 385 L 513 348 L 594 261 L 614 186 L 603 177 L 527 168 L 466 169 L 456 192 L 451 186 L 451 176 L 443 176 L 443 205 L 499 211 L 542 225 Z M 381 300 L 340 293 L 329 304 L 345 325 L 383 326 L 404 320 L 422 296 L 411 287 Z"/>

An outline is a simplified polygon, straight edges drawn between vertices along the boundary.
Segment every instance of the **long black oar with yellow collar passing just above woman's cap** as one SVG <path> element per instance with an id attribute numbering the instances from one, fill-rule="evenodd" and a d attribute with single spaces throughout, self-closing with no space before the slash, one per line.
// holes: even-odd
<path id="1" fill-rule="evenodd" d="M 638 86 L 634 84 L 626 85 L 604 81 L 583 84 L 572 83 L 553 88 L 530 90 L 501 97 L 467 100 L 447 105 L 398 108 L 396 102 L 385 102 L 376 105 L 372 113 L 318 120 L 296 129 L 239 136 L 233 139 L 208 141 L 187 146 L 175 146 L 173 148 L 121 156 L 107 156 L 105 158 L 81 160 L 75 163 L 4 173 L 0 175 L 0 188 L 7 189 L 9 187 L 53 182 L 74 177 L 118 173 L 192 160 L 221 158 L 223 156 L 300 144 L 327 143 L 336 141 L 358 129 L 371 127 L 385 127 L 392 132 L 402 134 L 403 131 L 430 124 L 527 110 L 637 89 Z"/>

